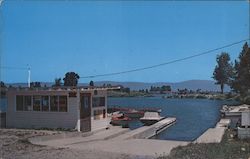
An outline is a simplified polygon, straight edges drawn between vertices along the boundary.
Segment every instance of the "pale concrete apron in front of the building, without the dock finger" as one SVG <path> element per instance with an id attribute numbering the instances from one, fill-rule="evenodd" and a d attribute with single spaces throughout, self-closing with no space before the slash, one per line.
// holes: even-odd
<path id="1" fill-rule="evenodd" d="M 127 137 L 131 135 L 131 132 L 120 127 L 111 127 L 109 130 L 100 131 L 86 137 L 75 136 L 55 140 L 43 140 L 41 137 L 30 141 L 39 145 L 128 154 L 146 158 L 154 158 L 163 154 L 168 155 L 173 148 L 188 144 L 188 142 L 182 141 L 128 139 Z"/>

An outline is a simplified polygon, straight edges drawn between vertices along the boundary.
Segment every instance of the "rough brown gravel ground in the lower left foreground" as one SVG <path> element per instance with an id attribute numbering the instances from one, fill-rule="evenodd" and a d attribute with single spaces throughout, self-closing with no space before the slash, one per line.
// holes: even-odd
<path id="1" fill-rule="evenodd" d="M 33 145 L 28 138 L 57 132 L 0 129 L 0 159 L 134 159 L 125 154 Z"/>

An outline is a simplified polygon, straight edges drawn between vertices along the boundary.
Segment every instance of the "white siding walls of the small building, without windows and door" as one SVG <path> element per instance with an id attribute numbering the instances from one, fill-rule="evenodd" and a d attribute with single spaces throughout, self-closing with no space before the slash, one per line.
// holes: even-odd
<path id="1" fill-rule="evenodd" d="M 69 128 L 80 130 L 80 98 L 79 93 L 91 93 L 91 97 L 105 97 L 105 105 L 92 107 L 91 98 L 91 131 L 107 128 L 107 91 L 81 90 L 75 97 L 69 97 L 67 90 L 10 90 L 7 94 L 6 126 L 8 128 Z M 67 96 L 67 112 L 16 111 L 17 95 L 64 95 Z M 95 110 L 105 109 L 105 118 L 94 119 Z"/>

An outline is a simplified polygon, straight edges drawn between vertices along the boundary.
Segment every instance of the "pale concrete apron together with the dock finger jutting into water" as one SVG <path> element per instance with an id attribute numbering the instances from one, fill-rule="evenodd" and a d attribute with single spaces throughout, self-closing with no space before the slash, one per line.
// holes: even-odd
<path id="1" fill-rule="evenodd" d="M 110 126 L 110 129 L 96 132 L 83 137 L 66 136 L 55 139 L 44 136 L 29 139 L 33 144 L 47 145 L 58 148 L 70 148 L 76 150 L 87 150 L 93 152 L 111 152 L 128 154 L 132 156 L 144 156 L 155 158 L 158 155 L 167 155 L 177 146 L 185 146 L 189 142 L 147 139 L 165 130 L 176 122 L 176 118 L 165 118 L 151 126 L 143 126 L 135 130 L 123 129 Z M 61 136 L 61 135 L 60 135 Z"/>

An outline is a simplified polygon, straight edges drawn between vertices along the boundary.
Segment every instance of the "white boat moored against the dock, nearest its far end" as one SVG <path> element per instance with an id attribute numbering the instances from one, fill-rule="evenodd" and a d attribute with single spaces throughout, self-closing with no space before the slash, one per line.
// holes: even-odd
<path id="1" fill-rule="evenodd" d="M 165 117 L 160 116 L 158 112 L 145 112 L 144 116 L 140 118 L 140 121 L 144 125 L 152 125 L 163 119 L 165 119 Z"/>

